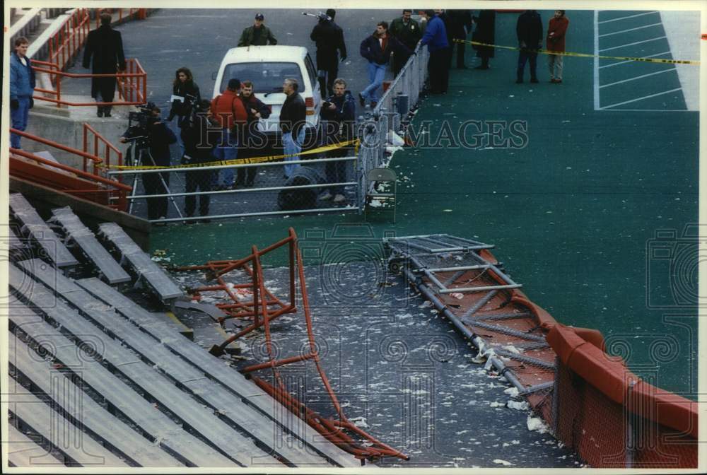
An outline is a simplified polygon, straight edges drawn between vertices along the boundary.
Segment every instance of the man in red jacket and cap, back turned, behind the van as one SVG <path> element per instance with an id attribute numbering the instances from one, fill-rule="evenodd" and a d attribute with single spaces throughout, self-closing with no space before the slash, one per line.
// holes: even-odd
<path id="1" fill-rule="evenodd" d="M 231 78 L 228 80 L 228 88 L 223 91 L 223 94 L 211 100 L 211 115 L 214 116 L 214 122 L 221 126 L 221 136 L 219 136 L 214 149 L 216 160 L 238 158 L 239 132 L 248 118 L 238 93 L 240 93 L 240 81 Z M 214 173 L 213 181 L 212 189 L 232 189 L 233 168 L 223 169 L 223 183 L 218 183 L 218 172 Z"/>

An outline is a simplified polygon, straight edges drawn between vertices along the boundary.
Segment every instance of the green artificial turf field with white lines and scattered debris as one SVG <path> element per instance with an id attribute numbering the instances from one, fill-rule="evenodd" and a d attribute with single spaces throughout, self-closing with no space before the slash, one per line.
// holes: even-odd
<path id="1" fill-rule="evenodd" d="M 600 12 L 597 18 L 635 13 L 640 12 Z M 551 12 L 541 15 L 547 28 Z M 658 23 L 656 17 L 637 16 L 621 27 Z M 497 16 L 499 45 L 515 45 L 515 18 L 515 13 Z M 568 51 L 594 52 L 595 13 L 568 11 L 568 18 Z M 597 30 L 615 33 L 621 30 L 618 23 L 600 23 Z M 642 42 L 601 54 L 658 54 L 667 51 L 665 40 L 643 41 L 662 35 L 662 26 L 655 25 L 599 37 L 596 45 L 601 50 Z M 452 129 L 469 119 L 524 121 L 525 148 L 397 152 L 391 163 L 400 178 L 397 223 L 372 221 L 375 236 L 448 233 L 495 244 L 514 280 L 556 319 L 600 329 L 633 370 L 645 377 L 655 373 L 652 382 L 691 397 L 696 310 L 671 292 L 670 257 L 648 249 L 656 231 L 674 230 L 679 237 L 685 225 L 698 221 L 699 113 L 683 111 L 680 90 L 664 93 L 679 88 L 675 71 L 599 87 L 670 65 L 600 69 L 610 64 L 600 61 L 595 69 L 593 59 L 568 57 L 563 84 L 556 85 L 548 82 L 547 59 L 541 56 L 540 83 L 527 83 L 526 71 L 526 83 L 517 85 L 516 58 L 516 52 L 497 50 L 488 71 L 452 69 L 449 94 L 423 100 L 414 123 L 432 120 L 435 136 L 443 121 Z M 476 65 L 472 59 L 467 47 L 470 66 Z M 599 107 L 612 110 L 595 110 L 597 94 Z M 648 95 L 655 96 L 634 100 Z M 352 222 L 363 218 L 350 213 L 250 218 L 170 226 L 156 230 L 152 242 L 153 250 L 167 250 L 172 262 L 187 264 L 243 256 L 254 243 L 285 237 L 288 226 L 304 235 L 312 228 L 330 233 L 335 224 Z M 694 239 L 680 243 L 694 245 Z M 688 272 L 696 272 L 694 257 L 687 261 Z M 696 285 L 693 277 L 686 277 L 689 285 Z M 660 353 L 660 345 L 672 349 Z"/>

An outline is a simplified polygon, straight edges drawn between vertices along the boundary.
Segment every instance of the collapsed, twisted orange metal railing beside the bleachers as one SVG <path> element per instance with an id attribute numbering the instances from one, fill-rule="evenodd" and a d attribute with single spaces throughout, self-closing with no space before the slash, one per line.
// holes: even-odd
<path id="1" fill-rule="evenodd" d="M 288 269 L 289 269 L 289 302 L 282 302 L 276 298 L 271 291 L 265 286 L 263 276 L 262 257 L 277 250 L 281 247 L 288 247 Z M 341 409 L 339 399 L 329 383 L 329 379 L 322 368 L 319 352 L 317 351 L 317 342 L 315 341 L 314 330 L 312 327 L 312 315 L 310 312 L 310 304 L 305 285 L 305 274 L 302 254 L 298 247 L 298 240 L 295 230 L 289 228 L 288 237 L 275 242 L 273 245 L 259 250 L 257 246 L 252 246 L 252 252 L 249 256 L 243 259 L 211 261 L 200 266 L 183 266 L 177 268 L 177 271 L 206 271 L 206 278 L 210 281 L 216 281 L 212 286 L 201 286 L 191 289 L 192 293 L 200 297 L 206 292 L 226 292 L 228 295 L 228 303 L 220 303 L 216 306 L 221 308 L 226 315 L 220 321 L 224 322 L 230 318 L 243 318 L 252 320 L 245 329 L 230 336 L 220 345 L 214 345 L 211 348 L 211 353 L 216 356 L 222 355 L 226 346 L 241 337 L 254 332 L 257 329 L 264 330 L 265 348 L 267 351 L 267 361 L 255 365 L 249 365 L 242 368 L 242 373 L 255 373 L 259 370 L 267 370 L 272 372 L 273 382 L 267 382 L 261 377 L 252 375 L 252 380 L 271 397 L 283 404 L 296 416 L 303 418 L 309 426 L 317 430 L 329 442 L 334 443 L 342 450 L 353 454 L 359 459 L 378 459 L 380 457 L 399 457 L 401 459 L 409 459 L 399 450 L 396 450 L 389 445 L 377 440 L 372 435 L 358 428 L 354 423 L 349 421 Z M 240 271 L 249 276 L 251 281 L 248 283 L 229 283 L 226 280 L 226 274 L 233 271 Z M 276 358 L 274 351 L 274 338 L 271 331 L 270 323 L 281 315 L 288 313 L 298 313 L 296 307 L 296 281 L 299 283 L 300 298 L 302 299 L 301 315 L 304 315 L 307 329 L 307 351 L 298 356 L 288 358 Z M 250 295 L 238 295 L 235 290 L 247 290 Z M 285 385 L 284 379 L 278 368 L 291 363 L 307 362 L 314 363 L 322 384 L 325 387 L 329 401 L 331 402 L 337 418 L 327 418 L 318 414 L 316 411 L 308 408 L 303 402 L 293 397 Z M 348 433 L 347 433 L 348 432 Z M 349 433 L 358 437 L 360 440 L 354 439 Z"/>

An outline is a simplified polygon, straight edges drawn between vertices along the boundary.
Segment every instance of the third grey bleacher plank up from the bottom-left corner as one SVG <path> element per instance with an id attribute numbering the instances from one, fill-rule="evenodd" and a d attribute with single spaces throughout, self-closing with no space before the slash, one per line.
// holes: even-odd
<path id="1" fill-rule="evenodd" d="M 83 388 L 75 385 L 69 378 L 61 380 L 57 385 L 55 378 L 47 377 L 45 362 L 40 363 L 29 346 L 19 339 L 11 337 L 8 349 L 10 364 L 22 374 L 22 377 L 16 375 L 16 378 L 21 381 L 28 380 L 41 392 L 52 397 L 55 408 L 60 408 L 65 414 L 76 418 L 78 424 L 84 430 L 88 429 L 95 434 L 100 442 L 112 445 L 140 467 L 184 466 L 83 394 Z"/>

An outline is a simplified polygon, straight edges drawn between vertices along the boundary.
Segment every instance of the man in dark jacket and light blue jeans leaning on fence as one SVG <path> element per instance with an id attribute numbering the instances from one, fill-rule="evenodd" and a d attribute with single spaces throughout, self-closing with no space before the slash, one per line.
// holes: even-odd
<path id="1" fill-rule="evenodd" d="M 385 77 L 385 66 L 390 61 L 392 52 L 402 52 L 408 56 L 413 52 L 399 42 L 396 37 L 388 35 L 388 23 L 381 21 L 376 25 L 375 32 L 361 42 L 361 56 L 368 59 L 368 81 L 366 89 L 358 94 L 361 107 L 370 100 L 370 107 L 378 104 L 378 88 L 382 86 Z"/>

